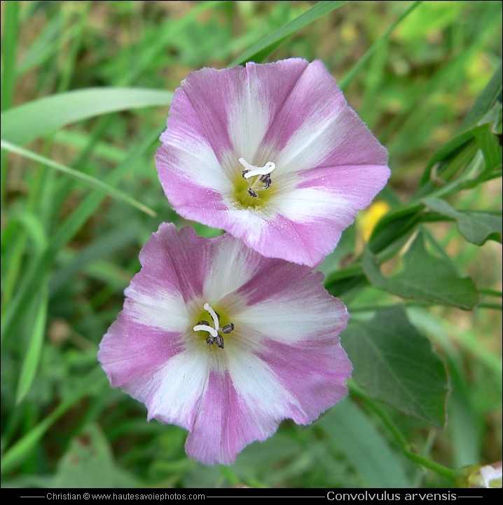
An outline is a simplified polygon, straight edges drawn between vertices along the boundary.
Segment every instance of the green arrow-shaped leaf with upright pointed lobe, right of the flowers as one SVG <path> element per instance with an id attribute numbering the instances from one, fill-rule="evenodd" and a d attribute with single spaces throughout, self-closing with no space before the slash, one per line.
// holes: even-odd
<path id="1" fill-rule="evenodd" d="M 449 262 L 429 254 L 422 232 L 404 255 L 403 268 L 398 274 L 383 276 L 379 262 L 370 250 L 365 250 L 364 272 L 375 288 L 405 299 L 453 305 L 460 309 L 470 310 L 478 303 L 478 292 L 471 278 L 460 278 Z"/>

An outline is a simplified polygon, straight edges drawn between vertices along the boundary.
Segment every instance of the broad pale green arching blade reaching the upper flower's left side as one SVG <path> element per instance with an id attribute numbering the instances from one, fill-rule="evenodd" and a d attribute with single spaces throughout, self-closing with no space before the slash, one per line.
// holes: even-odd
<path id="1" fill-rule="evenodd" d="M 62 126 L 121 110 L 170 105 L 173 93 L 144 88 L 88 88 L 34 100 L 1 113 L 1 137 L 24 144 Z"/>

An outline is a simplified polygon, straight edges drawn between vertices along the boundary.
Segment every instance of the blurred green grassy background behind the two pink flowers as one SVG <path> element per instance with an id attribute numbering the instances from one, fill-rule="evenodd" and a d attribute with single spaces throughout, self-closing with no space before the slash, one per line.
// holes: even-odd
<path id="1" fill-rule="evenodd" d="M 97 365 L 97 346 L 139 269 L 143 243 L 160 222 L 184 224 L 163 194 L 153 161 L 169 93 L 193 70 L 239 62 L 254 44 L 315 4 L 1 2 L 3 112 L 90 87 L 167 92 L 156 95 L 150 107 L 127 95 L 130 107 L 62 128 L 53 128 L 62 108 L 85 109 L 84 102 L 67 99 L 18 121 L 20 139 L 30 140 L 21 140 L 23 147 L 106 181 L 153 212 L 90 188 L 41 160 L 1 153 L 2 324 L 6 314 L 13 314 L 27 278 L 36 282 L 11 320 L 12 330 L 2 335 L 2 486 L 453 485 L 408 462 L 380 418 L 354 397 L 310 427 L 284 422 L 265 443 L 247 447 L 233 466 L 202 466 L 186 458 L 184 430 L 147 423 L 144 406 L 111 389 Z M 390 153 L 387 200 L 406 202 L 432 154 L 455 135 L 501 62 L 501 3 L 321 4 L 334 6 L 294 27 L 263 55 L 265 61 L 321 59 Z M 78 114 L 85 117 L 85 110 Z M 31 135 L 36 128 L 43 135 Z M 500 210 L 501 201 L 499 179 L 456 199 L 459 208 L 477 210 Z M 362 213 L 345 232 L 340 250 L 322 267 L 325 274 L 361 250 L 362 230 L 375 212 L 374 207 Z M 214 233 L 193 226 L 199 234 Z M 490 290 L 501 292 L 499 243 L 467 244 L 452 223 L 432 224 L 430 230 L 489 297 Z M 362 307 L 388 299 L 373 288 L 343 297 L 355 320 L 371 315 Z M 407 308 L 446 363 L 452 388 L 448 425 L 439 431 L 383 409 L 418 452 L 449 467 L 502 459 L 502 322 L 501 305 L 495 306 L 473 312 Z"/>

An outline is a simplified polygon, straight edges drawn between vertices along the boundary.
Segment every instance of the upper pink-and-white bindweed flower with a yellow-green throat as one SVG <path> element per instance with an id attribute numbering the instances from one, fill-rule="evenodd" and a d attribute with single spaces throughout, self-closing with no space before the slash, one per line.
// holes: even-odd
<path id="1" fill-rule="evenodd" d="M 193 72 L 160 140 L 158 174 L 177 213 L 310 267 L 390 176 L 386 149 L 320 61 Z"/>

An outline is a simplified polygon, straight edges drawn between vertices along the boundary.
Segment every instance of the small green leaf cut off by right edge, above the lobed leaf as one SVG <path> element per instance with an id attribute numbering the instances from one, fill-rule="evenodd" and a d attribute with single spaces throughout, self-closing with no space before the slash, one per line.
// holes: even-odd
<path id="1" fill-rule="evenodd" d="M 441 198 L 423 198 L 431 210 L 457 221 L 460 233 L 467 241 L 482 245 L 485 241 L 502 242 L 502 216 L 474 210 L 455 210 Z"/>

